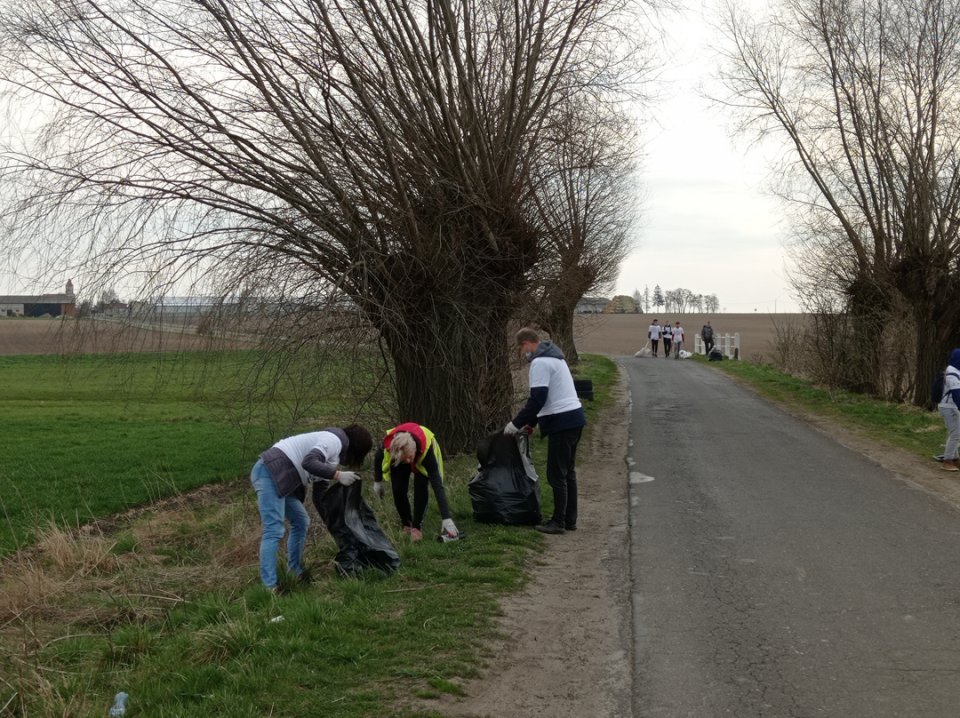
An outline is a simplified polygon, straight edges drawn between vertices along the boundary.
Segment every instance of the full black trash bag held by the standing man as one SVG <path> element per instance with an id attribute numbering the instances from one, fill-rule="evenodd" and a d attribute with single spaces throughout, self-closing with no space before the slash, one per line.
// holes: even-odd
<path id="1" fill-rule="evenodd" d="M 477 475 L 468 486 L 477 521 L 535 526 L 540 513 L 540 483 L 530 461 L 526 434 L 490 434 L 477 444 Z"/>

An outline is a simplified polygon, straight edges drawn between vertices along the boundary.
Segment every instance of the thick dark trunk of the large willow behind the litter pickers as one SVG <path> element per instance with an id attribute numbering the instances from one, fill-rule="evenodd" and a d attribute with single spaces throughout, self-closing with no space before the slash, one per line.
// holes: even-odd
<path id="1" fill-rule="evenodd" d="M 520 232 L 498 236 L 533 246 Z M 507 329 L 530 258 L 497 262 L 481 249 L 474 243 L 466 252 L 475 258 L 466 268 L 398 257 L 393 272 L 371 283 L 381 288 L 377 296 L 361 298 L 393 364 L 398 416 L 391 420 L 429 427 L 448 452 L 473 452 L 514 409 Z"/>

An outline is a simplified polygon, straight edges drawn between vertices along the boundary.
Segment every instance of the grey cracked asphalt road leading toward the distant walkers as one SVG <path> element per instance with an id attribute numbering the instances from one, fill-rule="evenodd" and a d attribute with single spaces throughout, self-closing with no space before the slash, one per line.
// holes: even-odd
<path id="1" fill-rule="evenodd" d="M 624 357 L 635 716 L 960 716 L 960 511 L 709 365 Z"/>

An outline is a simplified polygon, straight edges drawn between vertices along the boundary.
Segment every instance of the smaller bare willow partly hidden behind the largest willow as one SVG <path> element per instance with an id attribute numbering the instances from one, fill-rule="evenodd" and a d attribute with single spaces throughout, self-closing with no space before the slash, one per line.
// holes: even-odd
<path id="1" fill-rule="evenodd" d="M 577 302 L 609 288 L 631 248 L 636 133 L 613 103 L 571 105 L 554 129 L 537 167 L 541 249 L 531 311 L 575 364 Z"/>

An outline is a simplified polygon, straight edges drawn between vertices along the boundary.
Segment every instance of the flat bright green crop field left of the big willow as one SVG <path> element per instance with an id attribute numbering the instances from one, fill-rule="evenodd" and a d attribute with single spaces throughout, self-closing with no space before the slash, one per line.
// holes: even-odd
<path id="1" fill-rule="evenodd" d="M 0 357 L 0 556 L 48 520 L 235 478 L 298 420 L 353 420 L 345 368 L 275 386 L 281 369 L 246 352 Z"/>

